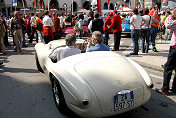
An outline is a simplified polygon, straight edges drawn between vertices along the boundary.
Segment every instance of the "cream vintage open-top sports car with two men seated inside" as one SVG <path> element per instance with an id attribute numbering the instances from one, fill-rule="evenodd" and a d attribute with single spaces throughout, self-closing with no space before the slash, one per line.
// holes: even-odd
<path id="1" fill-rule="evenodd" d="M 84 40 L 77 40 L 80 48 Z M 53 63 L 48 58 L 65 40 L 38 43 L 36 64 L 51 80 L 58 108 L 81 117 L 106 117 L 135 109 L 151 96 L 153 83 L 137 63 L 111 51 L 87 52 Z"/>

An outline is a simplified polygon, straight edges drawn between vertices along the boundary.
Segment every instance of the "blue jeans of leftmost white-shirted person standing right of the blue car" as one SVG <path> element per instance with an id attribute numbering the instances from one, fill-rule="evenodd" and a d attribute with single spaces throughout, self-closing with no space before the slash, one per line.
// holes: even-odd
<path id="1" fill-rule="evenodd" d="M 133 52 L 138 54 L 139 51 L 139 37 L 141 36 L 141 29 L 132 29 L 131 30 L 131 37 L 133 40 Z"/>

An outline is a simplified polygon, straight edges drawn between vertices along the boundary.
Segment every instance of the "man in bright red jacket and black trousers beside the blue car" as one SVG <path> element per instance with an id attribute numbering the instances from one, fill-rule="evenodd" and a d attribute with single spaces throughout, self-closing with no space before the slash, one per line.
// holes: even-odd
<path id="1" fill-rule="evenodd" d="M 114 11 L 114 16 L 112 18 L 112 24 L 109 26 L 109 29 L 113 28 L 114 33 L 114 49 L 112 51 L 119 50 L 120 39 L 122 33 L 122 20 L 121 17 L 117 14 L 117 11 Z"/>

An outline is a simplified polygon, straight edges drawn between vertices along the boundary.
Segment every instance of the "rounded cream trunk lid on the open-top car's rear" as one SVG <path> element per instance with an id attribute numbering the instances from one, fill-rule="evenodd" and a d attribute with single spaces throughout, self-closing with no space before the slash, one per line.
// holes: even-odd
<path id="1" fill-rule="evenodd" d="M 142 94 L 137 93 L 143 93 L 143 80 L 124 57 L 101 55 L 83 60 L 74 68 L 95 92 L 103 112 L 114 112 L 114 96 L 121 90 L 133 91 L 136 103 L 142 102 Z"/>

